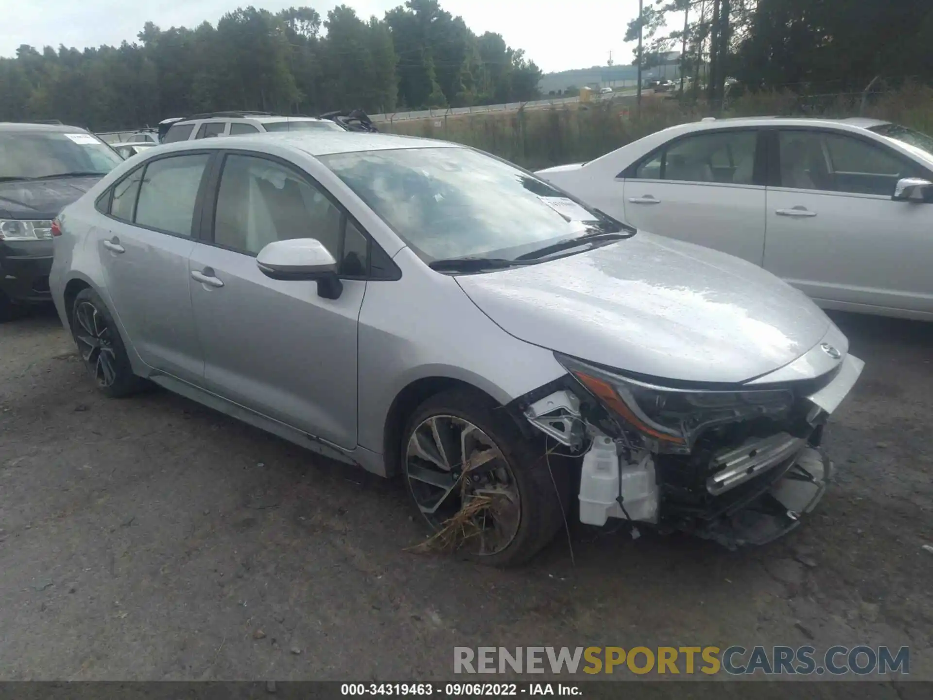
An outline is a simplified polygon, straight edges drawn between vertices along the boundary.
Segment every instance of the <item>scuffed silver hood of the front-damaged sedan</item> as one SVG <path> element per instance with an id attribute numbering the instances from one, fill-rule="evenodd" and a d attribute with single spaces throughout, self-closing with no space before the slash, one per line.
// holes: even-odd
<path id="1" fill-rule="evenodd" d="M 831 325 L 800 291 L 745 260 L 643 232 L 456 279 L 523 341 L 675 380 L 745 382 L 800 357 Z"/>

